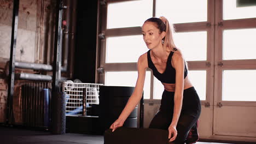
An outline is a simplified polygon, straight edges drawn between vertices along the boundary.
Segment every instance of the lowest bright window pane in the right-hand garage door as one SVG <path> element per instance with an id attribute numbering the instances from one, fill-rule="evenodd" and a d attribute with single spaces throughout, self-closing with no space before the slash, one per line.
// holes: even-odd
<path id="1" fill-rule="evenodd" d="M 256 101 L 256 70 L 224 70 L 222 100 Z"/>

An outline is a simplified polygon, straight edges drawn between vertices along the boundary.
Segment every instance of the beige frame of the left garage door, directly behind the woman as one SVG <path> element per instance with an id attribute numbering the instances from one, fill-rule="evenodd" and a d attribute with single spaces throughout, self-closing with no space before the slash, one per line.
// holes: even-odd
<path id="1" fill-rule="evenodd" d="M 107 29 L 107 4 L 114 2 L 124 2 L 122 1 L 108 1 L 107 3 L 99 4 L 100 15 L 98 16 L 98 21 L 100 21 L 101 26 L 98 27 L 98 34 L 104 34 L 105 38 L 98 38 L 98 55 L 97 55 L 97 68 L 102 68 L 103 73 L 98 73 L 96 70 L 96 82 L 104 83 L 104 72 L 105 71 L 137 71 L 137 63 L 106 63 L 106 37 L 123 36 L 123 35 L 136 35 L 141 34 L 141 27 L 126 27 L 126 28 L 112 28 Z M 153 17 L 156 13 L 156 0 L 153 2 Z M 209 101 L 213 101 L 213 74 L 214 74 L 214 1 L 208 0 L 208 13 L 207 21 L 205 22 L 191 22 L 191 23 L 176 23 L 173 26 L 176 32 L 193 32 L 193 31 L 207 31 L 207 60 L 206 61 L 191 61 L 188 62 L 190 70 L 206 70 L 207 71 L 207 89 L 206 89 L 206 100 L 201 101 L 202 104 Z M 150 69 L 147 69 L 151 71 Z M 150 99 L 145 99 L 145 103 L 159 104 L 160 100 L 153 99 L 154 94 L 154 76 L 151 72 L 150 77 Z M 213 102 L 211 102 L 213 105 Z"/>

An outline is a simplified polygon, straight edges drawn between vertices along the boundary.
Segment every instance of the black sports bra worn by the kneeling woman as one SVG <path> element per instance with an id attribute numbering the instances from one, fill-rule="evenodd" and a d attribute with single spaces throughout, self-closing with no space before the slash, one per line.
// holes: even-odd
<path id="1" fill-rule="evenodd" d="M 172 55 L 173 51 L 170 52 L 167 62 L 166 62 L 166 69 L 164 73 L 159 73 L 158 69 L 156 69 L 154 63 L 152 62 L 152 59 L 150 57 L 150 50 L 148 51 L 148 67 L 153 70 L 153 75 L 158 79 L 159 81 L 163 83 L 175 83 L 176 82 L 176 70 L 172 67 Z M 184 69 L 184 79 L 188 75 L 188 69 L 187 66 L 185 65 Z"/>

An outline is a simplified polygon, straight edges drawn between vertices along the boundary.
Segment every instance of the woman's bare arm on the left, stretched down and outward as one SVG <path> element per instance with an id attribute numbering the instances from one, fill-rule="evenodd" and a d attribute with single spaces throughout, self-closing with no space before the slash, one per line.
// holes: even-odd
<path id="1" fill-rule="evenodd" d="M 117 121 L 115 121 L 110 126 L 110 129 L 112 129 L 112 131 L 123 126 L 126 118 L 130 115 L 130 113 L 133 111 L 135 106 L 138 104 L 138 101 L 141 100 L 144 81 L 146 77 L 146 69 L 147 69 L 147 59 L 145 58 L 145 55 L 142 55 L 139 57 L 138 63 L 137 63 L 138 78 L 137 78 L 135 90 L 133 91 L 131 97 L 127 101 L 127 104 L 124 110 L 121 112 Z"/>

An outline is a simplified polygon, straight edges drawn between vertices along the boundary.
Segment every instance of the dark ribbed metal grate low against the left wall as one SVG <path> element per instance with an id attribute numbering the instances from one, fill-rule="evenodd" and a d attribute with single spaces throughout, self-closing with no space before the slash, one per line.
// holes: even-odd
<path id="1" fill-rule="evenodd" d="M 50 82 L 26 82 L 21 86 L 22 121 L 29 127 L 49 126 Z"/>

